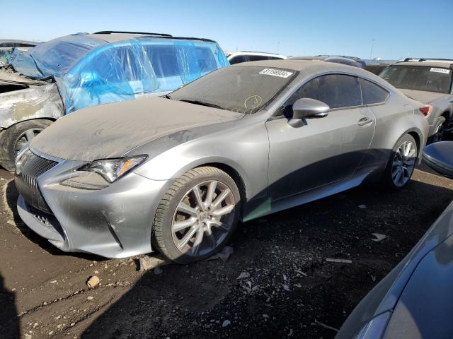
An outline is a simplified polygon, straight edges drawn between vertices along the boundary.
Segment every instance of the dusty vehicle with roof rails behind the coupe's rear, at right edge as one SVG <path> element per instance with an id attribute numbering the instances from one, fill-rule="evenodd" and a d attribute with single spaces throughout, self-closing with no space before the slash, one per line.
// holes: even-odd
<path id="1" fill-rule="evenodd" d="M 432 142 L 453 132 L 453 60 L 405 59 L 386 67 L 379 76 L 430 106 L 426 115 Z"/>

